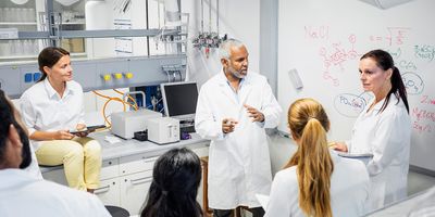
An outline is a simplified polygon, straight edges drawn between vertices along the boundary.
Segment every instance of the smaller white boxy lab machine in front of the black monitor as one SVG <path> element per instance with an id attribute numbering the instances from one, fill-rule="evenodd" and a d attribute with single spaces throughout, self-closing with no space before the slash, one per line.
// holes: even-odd
<path id="1" fill-rule="evenodd" d="M 158 144 L 179 141 L 179 120 L 172 117 L 149 119 L 148 140 Z"/>

